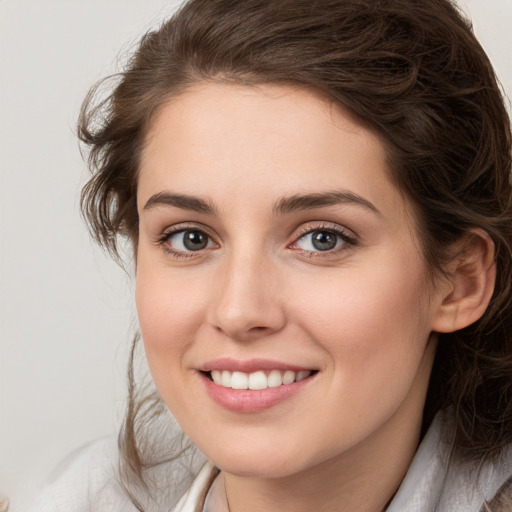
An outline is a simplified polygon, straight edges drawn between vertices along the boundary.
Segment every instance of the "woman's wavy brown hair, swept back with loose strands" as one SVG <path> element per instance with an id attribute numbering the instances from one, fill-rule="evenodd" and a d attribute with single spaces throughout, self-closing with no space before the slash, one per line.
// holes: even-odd
<path id="1" fill-rule="evenodd" d="M 510 121 L 492 66 L 470 23 L 448 0 L 191 0 L 146 34 L 103 101 L 84 103 L 79 136 L 93 172 L 82 209 L 118 256 L 136 246 L 137 170 L 154 113 L 198 81 L 293 83 L 350 109 L 387 146 L 393 179 L 415 206 L 424 257 L 442 270 L 470 228 L 490 235 L 498 277 L 474 325 L 441 335 L 425 425 L 451 406 L 469 457 L 512 442 L 512 190 Z M 142 476 L 130 384 L 121 447 Z M 147 400 L 147 399 L 145 399 Z M 150 412 L 154 409 L 149 407 Z M 155 414 L 153 414 L 155 416 Z"/>

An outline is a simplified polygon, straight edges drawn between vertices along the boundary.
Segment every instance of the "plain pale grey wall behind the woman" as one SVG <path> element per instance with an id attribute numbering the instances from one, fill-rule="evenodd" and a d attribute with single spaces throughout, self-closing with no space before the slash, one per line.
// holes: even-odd
<path id="1" fill-rule="evenodd" d="M 0 0 L 0 492 L 14 512 L 122 418 L 133 288 L 80 219 L 74 130 L 89 86 L 178 3 Z M 512 98 L 512 0 L 459 4 Z"/>

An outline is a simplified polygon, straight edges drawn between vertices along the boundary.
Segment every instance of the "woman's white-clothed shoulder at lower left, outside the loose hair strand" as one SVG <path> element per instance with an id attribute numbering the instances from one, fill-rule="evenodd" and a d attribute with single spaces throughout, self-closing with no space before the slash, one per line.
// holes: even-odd
<path id="1" fill-rule="evenodd" d="M 30 512 L 136 512 L 118 483 L 117 464 L 115 439 L 82 446 L 56 468 Z"/>

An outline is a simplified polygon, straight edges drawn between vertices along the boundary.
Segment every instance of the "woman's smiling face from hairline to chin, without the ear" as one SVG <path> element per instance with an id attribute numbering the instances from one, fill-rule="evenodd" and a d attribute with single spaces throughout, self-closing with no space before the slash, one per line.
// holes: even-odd
<path id="1" fill-rule="evenodd" d="M 417 441 L 438 292 L 371 131 L 313 92 L 197 85 L 153 122 L 138 209 L 151 373 L 215 464 Z"/>

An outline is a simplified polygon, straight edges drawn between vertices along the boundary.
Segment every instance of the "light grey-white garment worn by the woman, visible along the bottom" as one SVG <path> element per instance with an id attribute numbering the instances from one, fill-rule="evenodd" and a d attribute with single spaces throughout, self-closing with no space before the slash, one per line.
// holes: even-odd
<path id="1" fill-rule="evenodd" d="M 387 512 L 512 511 L 512 447 L 495 464 L 458 463 L 452 456 L 452 438 L 450 414 L 440 413 Z M 137 512 L 116 478 L 117 459 L 112 439 L 97 441 L 74 453 L 30 512 Z M 218 469 L 206 463 L 195 479 L 189 475 L 188 464 L 181 460 L 153 468 L 148 476 L 160 495 L 145 512 L 205 512 L 203 505 Z M 219 503 L 218 498 L 219 492 L 212 492 L 208 506 Z"/>

